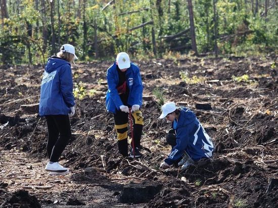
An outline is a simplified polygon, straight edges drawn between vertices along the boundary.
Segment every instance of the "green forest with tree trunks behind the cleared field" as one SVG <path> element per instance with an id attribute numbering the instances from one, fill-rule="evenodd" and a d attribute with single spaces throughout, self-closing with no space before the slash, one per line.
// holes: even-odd
<path id="1" fill-rule="evenodd" d="M 277 53 L 276 0 L 0 0 L 0 64 Z"/>

